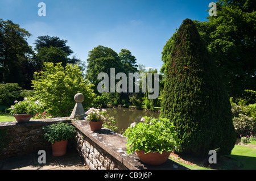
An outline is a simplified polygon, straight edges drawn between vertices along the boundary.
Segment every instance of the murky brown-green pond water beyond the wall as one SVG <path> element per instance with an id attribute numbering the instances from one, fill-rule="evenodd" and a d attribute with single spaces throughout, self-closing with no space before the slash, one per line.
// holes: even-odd
<path id="1" fill-rule="evenodd" d="M 138 123 L 141 117 L 155 117 L 158 118 L 159 112 L 147 112 L 143 110 L 130 110 L 129 108 L 106 108 L 109 116 L 115 118 L 118 131 L 125 131 L 131 123 Z"/>

